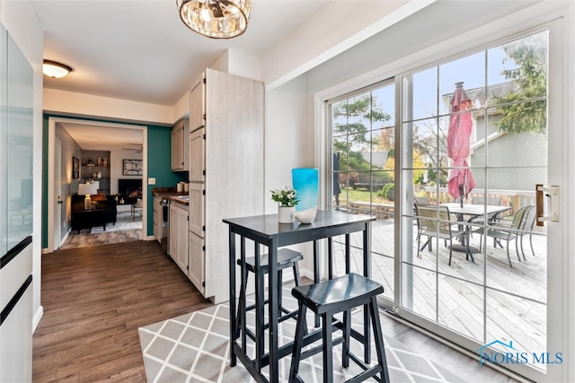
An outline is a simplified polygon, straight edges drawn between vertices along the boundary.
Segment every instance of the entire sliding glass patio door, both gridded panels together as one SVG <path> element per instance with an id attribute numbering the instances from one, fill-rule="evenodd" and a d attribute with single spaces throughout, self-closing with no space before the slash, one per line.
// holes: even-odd
<path id="1" fill-rule="evenodd" d="M 562 279 L 549 277 L 561 274 L 562 231 L 538 224 L 535 206 L 535 186 L 562 179 L 563 154 L 548 149 L 562 147 L 556 28 L 327 103 L 332 209 L 376 217 L 380 303 L 480 363 L 534 380 L 563 358 L 552 323 L 561 300 L 550 298 Z M 357 242 L 351 271 L 362 267 Z M 343 243 L 334 241 L 335 257 Z"/>

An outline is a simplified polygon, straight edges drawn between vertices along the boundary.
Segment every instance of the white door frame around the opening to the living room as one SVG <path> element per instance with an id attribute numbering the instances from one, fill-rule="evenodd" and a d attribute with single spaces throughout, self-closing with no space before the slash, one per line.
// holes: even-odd
<path id="1" fill-rule="evenodd" d="M 119 127 L 123 129 L 138 129 L 142 131 L 142 202 L 144 209 L 142 209 L 142 239 L 147 237 L 147 126 L 117 124 L 110 122 L 89 121 L 82 118 L 49 118 L 48 119 L 48 247 L 46 252 L 53 252 L 57 246 L 54 243 L 54 204 L 52 202 L 57 196 L 54 196 L 54 166 L 55 166 L 55 141 L 56 141 L 56 125 L 58 123 L 82 123 L 83 125 L 92 126 L 105 126 L 105 127 Z"/>

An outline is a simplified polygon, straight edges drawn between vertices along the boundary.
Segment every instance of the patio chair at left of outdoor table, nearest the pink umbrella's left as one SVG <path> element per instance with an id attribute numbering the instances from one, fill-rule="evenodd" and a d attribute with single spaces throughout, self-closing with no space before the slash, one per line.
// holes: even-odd
<path id="1" fill-rule="evenodd" d="M 417 216 L 418 236 L 417 248 L 420 252 L 426 246 L 429 251 L 432 250 L 431 239 L 438 238 L 444 239 L 446 246 L 447 240 L 449 241 L 449 265 L 451 265 L 451 256 L 453 254 L 453 239 L 460 235 L 464 235 L 464 230 L 460 230 L 458 226 L 451 221 L 451 214 L 447 206 L 441 205 L 417 205 L 415 204 L 415 211 Z M 420 247 L 421 236 L 424 235 L 428 239 Z"/>

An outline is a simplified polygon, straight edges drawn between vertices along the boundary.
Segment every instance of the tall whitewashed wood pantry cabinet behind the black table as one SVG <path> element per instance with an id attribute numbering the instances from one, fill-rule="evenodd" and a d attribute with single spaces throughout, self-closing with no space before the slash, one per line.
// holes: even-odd
<path id="1" fill-rule="evenodd" d="M 188 276 L 229 300 L 224 218 L 263 213 L 263 84 L 207 69 L 190 93 Z"/>

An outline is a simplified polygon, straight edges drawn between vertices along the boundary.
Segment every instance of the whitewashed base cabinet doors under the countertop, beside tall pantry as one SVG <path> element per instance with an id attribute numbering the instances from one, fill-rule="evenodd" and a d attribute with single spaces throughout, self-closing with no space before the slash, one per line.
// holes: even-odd
<path id="1" fill-rule="evenodd" d="M 170 204 L 170 257 L 188 274 L 188 206 Z"/>

